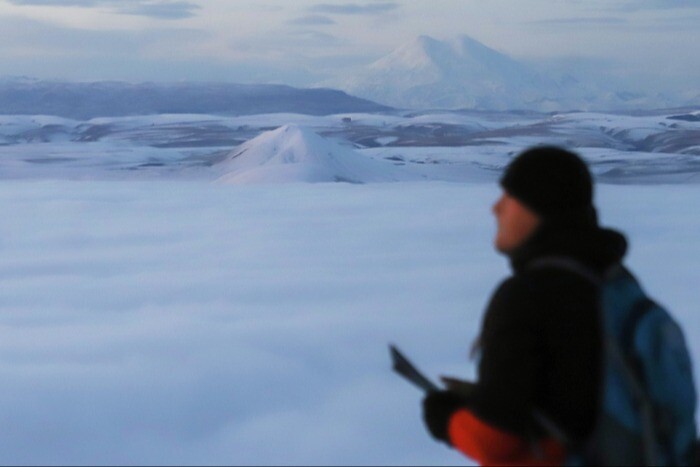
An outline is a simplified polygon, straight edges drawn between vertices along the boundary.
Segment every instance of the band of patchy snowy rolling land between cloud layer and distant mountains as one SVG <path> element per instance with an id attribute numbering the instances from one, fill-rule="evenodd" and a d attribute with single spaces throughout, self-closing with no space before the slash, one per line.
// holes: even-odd
<path id="1" fill-rule="evenodd" d="M 88 121 L 5 116 L 0 179 L 214 180 L 233 166 L 241 170 L 230 182 L 493 181 L 518 152 L 554 144 L 574 148 L 605 182 L 698 183 L 700 122 L 692 112 L 679 112 L 407 111 Z M 275 133 L 280 127 L 288 131 Z M 257 158 L 244 154 L 221 163 L 241 147 Z M 273 157 L 282 147 L 295 154 L 291 161 Z"/>

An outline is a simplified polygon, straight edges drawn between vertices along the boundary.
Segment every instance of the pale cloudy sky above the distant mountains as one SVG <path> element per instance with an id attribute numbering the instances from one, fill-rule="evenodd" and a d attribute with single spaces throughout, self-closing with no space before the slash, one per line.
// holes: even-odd
<path id="1" fill-rule="evenodd" d="M 0 0 L 0 76 L 313 85 L 419 35 L 697 82 L 697 0 Z"/>

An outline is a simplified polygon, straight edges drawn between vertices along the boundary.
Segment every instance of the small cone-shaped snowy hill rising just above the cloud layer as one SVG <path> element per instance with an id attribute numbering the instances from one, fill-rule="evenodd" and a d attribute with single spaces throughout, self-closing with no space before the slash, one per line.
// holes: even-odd
<path id="1" fill-rule="evenodd" d="M 285 125 L 242 144 L 221 168 L 226 172 L 218 179 L 222 183 L 368 183 L 416 178 L 296 125 Z"/>

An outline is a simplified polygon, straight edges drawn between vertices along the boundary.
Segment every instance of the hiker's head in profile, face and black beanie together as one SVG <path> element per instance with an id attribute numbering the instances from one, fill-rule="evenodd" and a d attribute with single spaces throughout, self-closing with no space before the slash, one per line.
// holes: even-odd
<path id="1" fill-rule="evenodd" d="M 597 225 L 593 180 L 576 154 L 535 147 L 516 157 L 501 179 L 503 196 L 493 207 L 495 247 L 509 254 L 543 225 L 583 229 Z"/>

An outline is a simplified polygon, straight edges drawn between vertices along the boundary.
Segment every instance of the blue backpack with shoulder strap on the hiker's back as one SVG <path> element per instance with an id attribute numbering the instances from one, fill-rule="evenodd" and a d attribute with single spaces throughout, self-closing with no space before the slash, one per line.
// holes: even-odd
<path id="1" fill-rule="evenodd" d="M 593 434 L 570 463 L 695 465 L 697 394 L 685 338 L 670 313 L 620 265 L 604 277 L 566 257 L 531 267 L 567 270 L 600 287 L 602 404 Z"/>

